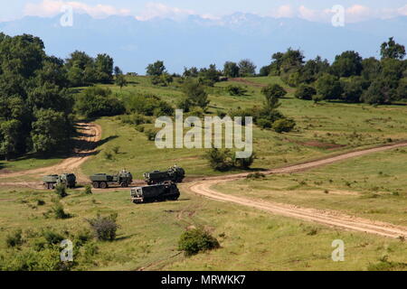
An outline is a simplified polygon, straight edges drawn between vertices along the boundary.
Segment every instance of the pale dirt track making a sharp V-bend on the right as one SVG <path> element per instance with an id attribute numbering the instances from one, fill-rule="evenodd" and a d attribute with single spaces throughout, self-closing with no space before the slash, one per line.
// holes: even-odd
<path id="1" fill-rule="evenodd" d="M 270 170 L 266 173 L 271 174 L 271 173 L 300 172 L 311 168 L 316 168 L 321 165 L 336 163 L 349 158 L 362 156 L 364 154 L 383 152 L 386 150 L 391 150 L 403 146 L 407 146 L 407 143 L 386 145 L 381 147 L 375 147 L 372 149 L 366 149 L 363 151 L 337 155 L 324 160 L 302 163 L 285 168 Z M 353 216 L 342 214 L 337 211 L 315 210 L 270 201 L 251 200 L 247 198 L 224 194 L 219 191 L 214 191 L 211 188 L 213 185 L 221 182 L 230 182 L 232 180 L 244 178 L 247 176 L 247 174 L 248 173 L 240 173 L 231 176 L 208 178 L 207 180 L 200 182 L 193 182 L 188 185 L 188 190 L 213 200 L 232 202 L 242 206 L 247 206 L 259 210 L 266 210 L 269 211 L 270 213 L 278 214 L 281 216 L 314 221 L 331 227 L 345 228 L 349 230 L 361 231 L 365 233 L 371 233 L 390 238 L 407 237 L 407 228 L 394 226 L 389 223 L 356 218 Z"/>

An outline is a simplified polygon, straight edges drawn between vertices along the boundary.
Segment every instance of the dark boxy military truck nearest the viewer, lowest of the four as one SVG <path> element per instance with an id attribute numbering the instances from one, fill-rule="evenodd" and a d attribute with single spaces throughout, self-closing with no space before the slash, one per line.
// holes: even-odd
<path id="1" fill-rule="evenodd" d="M 135 204 L 141 204 L 153 201 L 178 200 L 180 192 L 174 182 L 164 182 L 132 188 L 130 196 Z"/>

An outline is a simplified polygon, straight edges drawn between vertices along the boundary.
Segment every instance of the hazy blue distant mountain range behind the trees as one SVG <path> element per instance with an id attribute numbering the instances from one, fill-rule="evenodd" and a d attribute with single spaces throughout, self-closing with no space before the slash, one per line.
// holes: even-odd
<path id="1" fill-rule="evenodd" d="M 74 14 L 71 27 L 62 27 L 60 16 L 24 17 L 0 23 L 0 31 L 39 36 L 49 54 L 62 58 L 75 50 L 92 56 L 106 52 L 122 70 L 144 74 L 147 64 L 156 60 L 165 61 L 171 72 L 211 63 L 221 68 L 224 61 L 245 58 L 260 69 L 270 63 L 272 53 L 289 47 L 301 49 L 308 59 L 321 55 L 332 61 L 346 50 L 378 57 L 380 44 L 390 36 L 407 45 L 407 16 L 334 27 L 298 18 L 241 13 L 217 20 L 189 16 L 182 21 L 137 21 L 129 16 L 93 19 L 87 14 Z"/>

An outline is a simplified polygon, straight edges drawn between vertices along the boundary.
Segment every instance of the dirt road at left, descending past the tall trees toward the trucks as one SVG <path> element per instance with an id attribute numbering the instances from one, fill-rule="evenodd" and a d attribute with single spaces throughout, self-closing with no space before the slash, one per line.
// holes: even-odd
<path id="1" fill-rule="evenodd" d="M 39 168 L 24 172 L 10 172 L 10 173 L 0 173 L 1 178 L 14 178 L 21 175 L 47 175 L 53 173 L 62 172 L 79 172 L 80 165 L 90 157 L 90 155 L 95 153 L 96 146 L 101 138 L 101 127 L 96 124 L 79 123 L 76 125 L 80 137 L 77 140 L 77 148 L 74 154 L 64 159 L 61 163 Z M 26 183 L 26 182 L 25 182 Z M 15 184 L 15 183 L 14 183 Z"/>

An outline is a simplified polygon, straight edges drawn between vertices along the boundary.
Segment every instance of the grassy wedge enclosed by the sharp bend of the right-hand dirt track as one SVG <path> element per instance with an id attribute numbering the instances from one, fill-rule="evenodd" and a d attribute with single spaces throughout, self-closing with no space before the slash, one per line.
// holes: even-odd
<path id="1" fill-rule="evenodd" d="M 407 151 L 395 149 L 307 172 L 219 184 L 219 191 L 407 226 Z"/>

